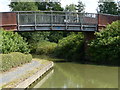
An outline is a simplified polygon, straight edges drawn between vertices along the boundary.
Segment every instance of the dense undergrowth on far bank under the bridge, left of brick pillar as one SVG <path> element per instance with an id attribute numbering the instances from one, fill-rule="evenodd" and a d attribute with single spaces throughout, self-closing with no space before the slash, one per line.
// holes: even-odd
<path id="1" fill-rule="evenodd" d="M 58 43 L 45 40 L 41 40 L 37 43 L 30 43 L 31 53 L 64 58 L 67 61 L 83 60 L 83 38 L 84 36 L 82 33 L 72 33 L 63 39 L 60 39 Z"/>

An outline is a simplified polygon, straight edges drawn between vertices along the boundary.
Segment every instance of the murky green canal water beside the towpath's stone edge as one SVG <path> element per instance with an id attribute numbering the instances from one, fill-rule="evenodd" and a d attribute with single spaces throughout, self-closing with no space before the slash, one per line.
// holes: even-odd
<path id="1" fill-rule="evenodd" d="M 33 88 L 118 88 L 118 67 L 59 62 Z"/>

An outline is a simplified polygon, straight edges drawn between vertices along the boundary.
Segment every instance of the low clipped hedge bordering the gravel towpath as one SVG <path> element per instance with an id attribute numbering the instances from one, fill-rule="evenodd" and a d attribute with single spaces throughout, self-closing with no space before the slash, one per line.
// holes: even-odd
<path id="1" fill-rule="evenodd" d="M 30 54 L 23 54 L 19 52 L 0 54 L 0 57 L 0 71 L 10 70 L 13 67 L 20 66 L 32 60 L 32 56 Z"/>

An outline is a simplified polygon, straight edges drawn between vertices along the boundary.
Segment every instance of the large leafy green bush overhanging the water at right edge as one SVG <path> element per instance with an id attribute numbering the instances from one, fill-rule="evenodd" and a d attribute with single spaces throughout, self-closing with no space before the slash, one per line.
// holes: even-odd
<path id="1" fill-rule="evenodd" d="M 91 61 L 98 63 L 118 64 L 120 59 L 120 21 L 113 22 L 89 44 Z"/>

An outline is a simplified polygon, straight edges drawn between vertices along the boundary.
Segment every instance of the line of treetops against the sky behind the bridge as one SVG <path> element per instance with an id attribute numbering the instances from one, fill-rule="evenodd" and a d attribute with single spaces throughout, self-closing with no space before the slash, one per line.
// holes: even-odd
<path id="1" fill-rule="evenodd" d="M 60 2 L 11 2 L 9 7 L 12 11 L 70 11 L 70 12 L 85 12 L 85 5 L 82 1 L 78 4 L 61 6 Z M 98 2 L 97 13 L 114 14 L 120 13 L 119 4 L 114 0 L 112 2 Z"/>

